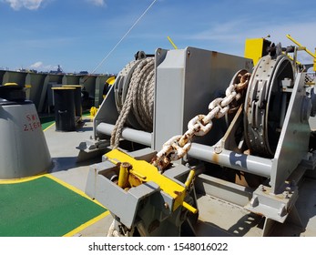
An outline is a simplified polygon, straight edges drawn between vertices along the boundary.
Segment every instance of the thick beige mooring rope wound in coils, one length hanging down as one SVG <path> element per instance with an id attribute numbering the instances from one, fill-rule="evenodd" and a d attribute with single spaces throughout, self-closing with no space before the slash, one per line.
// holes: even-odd
<path id="1" fill-rule="evenodd" d="M 138 124 L 144 131 L 153 127 L 153 108 L 155 93 L 154 57 L 140 60 L 130 79 L 127 97 L 111 134 L 111 147 L 117 148 L 127 116 L 132 110 Z"/>

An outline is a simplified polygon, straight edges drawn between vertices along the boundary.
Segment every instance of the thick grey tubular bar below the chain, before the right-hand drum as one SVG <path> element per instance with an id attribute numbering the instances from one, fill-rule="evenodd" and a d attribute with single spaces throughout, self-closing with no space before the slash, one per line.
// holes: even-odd
<path id="1" fill-rule="evenodd" d="M 239 154 L 228 149 L 215 152 L 215 147 L 192 143 L 188 156 L 228 168 L 239 169 L 251 174 L 270 178 L 272 160 Z"/>

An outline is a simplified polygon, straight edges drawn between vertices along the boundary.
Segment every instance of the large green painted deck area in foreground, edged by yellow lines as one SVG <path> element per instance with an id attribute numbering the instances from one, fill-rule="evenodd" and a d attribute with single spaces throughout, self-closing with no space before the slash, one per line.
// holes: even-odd
<path id="1" fill-rule="evenodd" d="M 0 184 L 1 237 L 61 237 L 107 209 L 53 179 Z"/>

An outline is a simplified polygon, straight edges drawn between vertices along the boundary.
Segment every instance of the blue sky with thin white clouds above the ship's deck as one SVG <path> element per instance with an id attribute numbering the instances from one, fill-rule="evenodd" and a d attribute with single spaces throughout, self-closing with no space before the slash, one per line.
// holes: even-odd
<path id="1" fill-rule="evenodd" d="M 0 68 L 92 72 L 154 0 L 0 0 Z M 302 5 L 303 4 L 303 5 Z M 195 46 L 243 56 L 246 38 L 290 34 L 312 52 L 314 0 L 156 0 L 96 73 L 117 73 L 138 50 Z M 312 58 L 300 53 L 303 63 Z"/>

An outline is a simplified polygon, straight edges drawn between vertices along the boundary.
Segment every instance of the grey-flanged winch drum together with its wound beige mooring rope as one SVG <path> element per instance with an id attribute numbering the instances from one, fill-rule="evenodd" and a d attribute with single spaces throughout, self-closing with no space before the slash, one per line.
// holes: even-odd
<path id="1" fill-rule="evenodd" d="M 117 78 L 116 102 L 119 117 L 111 134 L 111 146 L 117 148 L 124 125 L 152 132 L 155 94 L 154 57 L 133 61 Z M 123 73 L 123 74 L 122 74 Z M 132 111 L 132 115 L 129 115 Z"/>

